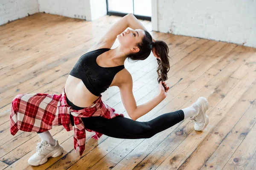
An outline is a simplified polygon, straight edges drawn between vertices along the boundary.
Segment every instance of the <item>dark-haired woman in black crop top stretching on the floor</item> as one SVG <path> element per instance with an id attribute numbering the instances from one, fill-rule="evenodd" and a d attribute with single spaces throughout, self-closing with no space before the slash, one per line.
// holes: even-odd
<path id="1" fill-rule="evenodd" d="M 126 29 L 128 27 L 133 29 Z M 119 46 L 110 49 L 116 38 Z M 137 106 L 132 93 L 132 77 L 125 69 L 124 62 L 127 58 L 146 59 L 151 50 L 159 65 L 159 94 Z M 136 17 L 128 14 L 79 58 L 67 78 L 62 94 L 17 95 L 11 108 L 12 135 L 17 130 L 34 131 L 42 140 L 28 163 L 37 166 L 44 164 L 48 157 L 63 153 L 63 147 L 48 131 L 55 125 L 63 125 L 68 131 L 74 126 L 74 148 L 77 150 L 79 147 L 80 156 L 85 146 L 85 130 L 96 132 L 92 136 L 94 139 L 102 134 L 122 139 L 150 138 L 187 118 L 195 121 L 195 130 L 204 130 L 209 122 L 206 115 L 208 102 L 204 97 L 200 97 L 189 108 L 165 113 L 148 122 L 136 121 L 167 96 L 169 87 L 164 81 L 168 78 L 170 68 L 168 53 L 169 48 L 165 42 L 152 39 Z M 119 87 L 122 103 L 131 119 L 115 113 L 113 108 L 102 102 L 101 93 L 110 86 Z"/>

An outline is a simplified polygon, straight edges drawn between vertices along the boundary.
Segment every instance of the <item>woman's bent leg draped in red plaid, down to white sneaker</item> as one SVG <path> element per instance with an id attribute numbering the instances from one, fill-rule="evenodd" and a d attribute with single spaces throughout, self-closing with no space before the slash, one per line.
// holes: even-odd
<path id="1" fill-rule="evenodd" d="M 52 125 L 58 123 L 55 112 L 60 97 L 61 95 L 55 94 L 18 94 L 12 101 L 10 113 L 12 135 L 15 135 L 18 130 L 44 131 L 38 134 L 42 141 L 38 143 L 36 153 L 28 159 L 28 163 L 33 166 L 44 164 L 48 157 L 57 157 L 64 152 L 58 140 L 53 139 L 48 131 Z"/>

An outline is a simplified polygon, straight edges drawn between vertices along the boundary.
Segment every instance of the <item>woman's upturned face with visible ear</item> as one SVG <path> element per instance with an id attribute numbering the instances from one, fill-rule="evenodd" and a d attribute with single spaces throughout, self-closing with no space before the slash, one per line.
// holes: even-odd
<path id="1" fill-rule="evenodd" d="M 140 49 L 136 44 L 141 42 L 144 36 L 145 31 L 142 29 L 126 29 L 117 35 L 117 39 L 122 47 L 129 48 L 132 52 L 138 52 Z"/>

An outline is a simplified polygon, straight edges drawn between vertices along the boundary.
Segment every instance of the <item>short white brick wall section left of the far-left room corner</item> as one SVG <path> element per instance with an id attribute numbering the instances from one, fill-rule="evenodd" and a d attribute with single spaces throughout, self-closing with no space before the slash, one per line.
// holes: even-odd
<path id="1" fill-rule="evenodd" d="M 0 0 L 0 25 L 38 11 L 38 0 Z"/>

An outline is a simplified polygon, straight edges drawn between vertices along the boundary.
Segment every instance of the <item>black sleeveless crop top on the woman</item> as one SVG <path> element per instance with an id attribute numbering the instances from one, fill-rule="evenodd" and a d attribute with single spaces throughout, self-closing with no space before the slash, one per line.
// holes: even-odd
<path id="1" fill-rule="evenodd" d="M 97 57 L 109 51 L 110 48 L 100 48 L 82 55 L 70 72 L 84 82 L 86 88 L 95 96 L 100 96 L 111 85 L 116 73 L 125 68 L 124 65 L 116 67 L 101 67 L 97 64 Z"/>

